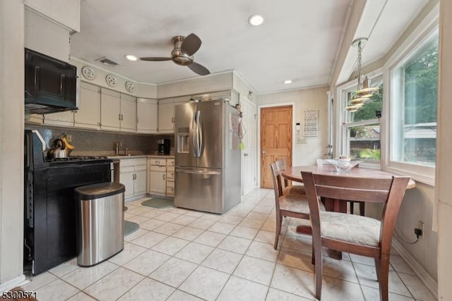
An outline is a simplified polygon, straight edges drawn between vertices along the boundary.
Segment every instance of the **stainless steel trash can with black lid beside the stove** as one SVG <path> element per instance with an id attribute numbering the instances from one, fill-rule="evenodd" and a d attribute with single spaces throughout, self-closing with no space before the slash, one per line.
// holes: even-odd
<path id="1" fill-rule="evenodd" d="M 124 249 L 124 191 L 110 182 L 75 189 L 79 266 L 99 264 Z"/>

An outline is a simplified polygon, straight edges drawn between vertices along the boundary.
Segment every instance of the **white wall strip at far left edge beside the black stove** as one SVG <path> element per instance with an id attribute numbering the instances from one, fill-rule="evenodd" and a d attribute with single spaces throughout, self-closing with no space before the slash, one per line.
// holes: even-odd
<path id="1" fill-rule="evenodd" d="M 23 0 L 0 1 L 0 291 L 23 281 Z"/>

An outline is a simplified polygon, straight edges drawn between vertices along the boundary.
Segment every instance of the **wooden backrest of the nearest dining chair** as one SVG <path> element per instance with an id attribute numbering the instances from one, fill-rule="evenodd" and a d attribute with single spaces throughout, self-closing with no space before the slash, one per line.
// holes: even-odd
<path id="1" fill-rule="evenodd" d="M 320 225 L 318 197 L 384 204 L 381 216 L 381 249 L 391 250 L 391 238 L 409 177 L 357 178 L 303 172 L 304 189 L 309 201 L 311 220 Z M 314 226 L 313 226 L 314 228 Z M 384 239 L 383 239 L 384 238 Z"/>

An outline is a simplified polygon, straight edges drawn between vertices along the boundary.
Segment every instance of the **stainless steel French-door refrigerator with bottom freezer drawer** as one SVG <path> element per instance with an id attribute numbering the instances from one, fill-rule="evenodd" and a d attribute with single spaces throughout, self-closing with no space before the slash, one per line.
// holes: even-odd
<path id="1" fill-rule="evenodd" d="M 240 202 L 238 112 L 222 100 L 177 104 L 174 205 L 222 214 Z"/>

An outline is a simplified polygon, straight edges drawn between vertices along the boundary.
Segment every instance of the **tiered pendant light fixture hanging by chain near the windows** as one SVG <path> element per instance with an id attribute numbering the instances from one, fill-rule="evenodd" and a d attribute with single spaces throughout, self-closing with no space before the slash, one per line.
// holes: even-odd
<path id="1" fill-rule="evenodd" d="M 364 78 L 363 82 L 361 82 L 361 63 L 362 63 L 362 47 L 367 42 L 367 37 L 359 37 L 352 42 L 353 47 L 358 48 L 358 59 L 357 59 L 357 67 L 358 67 L 358 84 L 355 92 L 352 93 L 352 99 L 348 102 L 348 106 L 345 109 L 349 112 L 356 112 L 362 109 L 362 106 L 369 101 L 370 97 L 376 92 L 379 92 L 379 87 L 370 87 L 370 79 Z"/>

